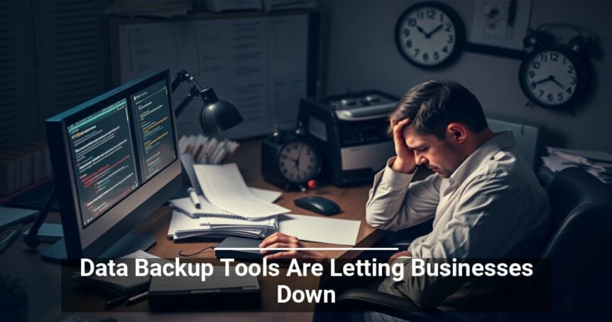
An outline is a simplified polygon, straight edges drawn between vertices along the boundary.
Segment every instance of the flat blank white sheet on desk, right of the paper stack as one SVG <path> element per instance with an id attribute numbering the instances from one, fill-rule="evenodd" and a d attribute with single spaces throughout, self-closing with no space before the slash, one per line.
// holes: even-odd
<path id="1" fill-rule="evenodd" d="M 354 246 L 359 234 L 359 220 L 308 215 L 279 215 L 278 231 L 310 242 Z"/>

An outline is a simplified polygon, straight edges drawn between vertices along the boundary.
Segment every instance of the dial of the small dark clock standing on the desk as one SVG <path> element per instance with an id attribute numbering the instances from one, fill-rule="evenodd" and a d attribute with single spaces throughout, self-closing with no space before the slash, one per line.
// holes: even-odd
<path id="1" fill-rule="evenodd" d="M 319 172 L 319 154 L 305 141 L 292 141 L 280 150 L 278 166 L 287 181 L 305 183 Z"/>

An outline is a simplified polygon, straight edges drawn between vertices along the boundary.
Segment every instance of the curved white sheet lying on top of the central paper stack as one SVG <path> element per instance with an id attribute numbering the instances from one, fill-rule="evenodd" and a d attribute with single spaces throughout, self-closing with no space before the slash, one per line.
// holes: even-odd
<path id="1" fill-rule="evenodd" d="M 196 164 L 197 180 L 206 198 L 223 210 L 243 218 L 266 218 L 290 210 L 258 198 L 248 189 L 236 163 Z"/>

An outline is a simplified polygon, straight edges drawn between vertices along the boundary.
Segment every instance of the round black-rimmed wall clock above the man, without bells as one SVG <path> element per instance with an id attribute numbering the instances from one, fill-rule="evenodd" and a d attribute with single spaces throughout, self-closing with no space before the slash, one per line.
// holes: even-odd
<path id="1" fill-rule="evenodd" d="M 446 63 L 459 53 L 465 40 L 461 19 L 449 6 L 425 2 L 408 8 L 395 27 L 400 53 L 421 67 Z"/>

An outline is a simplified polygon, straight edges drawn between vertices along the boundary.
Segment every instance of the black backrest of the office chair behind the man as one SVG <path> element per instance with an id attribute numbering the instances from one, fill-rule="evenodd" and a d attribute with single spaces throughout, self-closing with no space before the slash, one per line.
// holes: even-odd
<path id="1" fill-rule="evenodd" d="M 552 235 L 545 260 L 510 309 L 593 312 L 602 306 L 610 286 L 612 197 L 608 187 L 580 168 L 567 168 L 547 187 Z M 609 304 L 606 304 L 609 305 Z M 502 318 L 503 320 L 503 318 Z"/>

